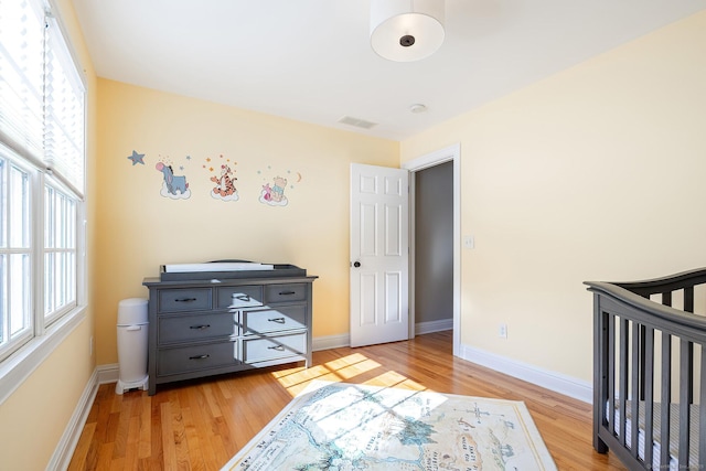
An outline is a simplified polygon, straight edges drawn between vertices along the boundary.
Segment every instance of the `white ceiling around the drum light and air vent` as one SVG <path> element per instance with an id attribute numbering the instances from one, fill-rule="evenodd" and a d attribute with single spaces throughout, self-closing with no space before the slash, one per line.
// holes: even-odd
<path id="1" fill-rule="evenodd" d="M 395 140 L 706 9 L 446 0 L 441 49 L 395 63 L 370 46 L 370 0 L 73 2 L 100 77 Z M 418 103 L 426 113 L 410 113 Z"/>

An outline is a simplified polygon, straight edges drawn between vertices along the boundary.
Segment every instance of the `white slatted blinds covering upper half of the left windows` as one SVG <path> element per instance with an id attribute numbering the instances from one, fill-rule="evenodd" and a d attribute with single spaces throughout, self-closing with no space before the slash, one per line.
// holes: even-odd
<path id="1" fill-rule="evenodd" d="M 0 140 L 79 197 L 85 87 L 41 0 L 0 0 Z"/>

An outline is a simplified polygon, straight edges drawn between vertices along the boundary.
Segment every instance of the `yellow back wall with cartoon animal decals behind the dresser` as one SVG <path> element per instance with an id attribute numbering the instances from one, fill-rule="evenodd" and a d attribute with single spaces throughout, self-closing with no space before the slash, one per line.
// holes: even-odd
<path id="1" fill-rule="evenodd" d="M 350 163 L 397 167 L 398 142 L 106 79 L 98 101 L 98 364 L 117 362 L 118 302 L 147 297 L 142 279 L 163 264 L 236 258 L 306 268 L 320 277 L 313 335 L 347 333 Z M 145 164 L 128 159 L 133 150 Z M 160 160 L 186 176 L 189 199 L 160 195 Z M 238 201 L 210 195 L 223 163 L 235 170 Z M 286 206 L 259 202 L 276 176 L 288 180 Z"/>

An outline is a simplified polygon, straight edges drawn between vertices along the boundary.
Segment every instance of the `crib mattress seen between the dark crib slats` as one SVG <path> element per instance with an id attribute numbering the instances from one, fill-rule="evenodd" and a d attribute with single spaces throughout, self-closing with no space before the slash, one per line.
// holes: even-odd
<path id="1" fill-rule="evenodd" d="M 625 448 L 630 449 L 630 443 L 632 441 L 632 407 L 631 402 L 628 400 L 625 403 L 627 414 L 625 414 Z M 609 404 L 606 404 L 606 413 L 609 410 Z M 644 425 L 645 425 L 645 403 L 640 402 L 638 405 L 639 410 L 639 421 L 638 421 L 638 456 L 641 460 L 644 460 Z M 652 439 L 652 448 L 653 448 L 653 460 L 652 468 L 653 469 L 663 469 L 660 465 L 660 454 L 662 451 L 662 445 L 660 443 L 660 429 L 662 425 L 662 404 L 654 403 L 653 406 L 653 439 Z M 618 402 L 616 402 L 616 411 L 614 411 L 614 433 L 620 433 L 620 409 Z M 670 471 L 678 471 L 680 462 L 678 462 L 678 449 L 680 449 L 680 405 L 671 404 L 670 405 Z M 698 405 L 693 404 L 689 406 L 689 463 L 692 465 L 697 465 L 698 462 Z M 688 468 L 688 463 L 684 463 L 681 469 Z"/>

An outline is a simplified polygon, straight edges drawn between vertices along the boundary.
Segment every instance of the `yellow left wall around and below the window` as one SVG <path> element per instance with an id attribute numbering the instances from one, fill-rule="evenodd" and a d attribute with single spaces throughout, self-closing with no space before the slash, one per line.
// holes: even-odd
<path id="1" fill-rule="evenodd" d="M 95 157 L 96 157 L 96 75 L 84 46 L 73 6 L 69 0 L 58 0 L 58 14 L 74 45 L 77 60 L 87 78 L 87 233 L 88 258 L 95 254 L 94 215 Z M 88 267 L 88 280 L 92 280 Z M 94 329 L 94 310 L 90 307 L 88 287 L 86 319 L 62 344 L 0 405 L 0 469 L 30 471 L 45 469 L 56 449 L 69 418 L 95 370 L 95 355 L 89 355 L 89 342 Z"/>

